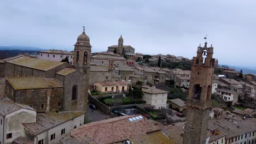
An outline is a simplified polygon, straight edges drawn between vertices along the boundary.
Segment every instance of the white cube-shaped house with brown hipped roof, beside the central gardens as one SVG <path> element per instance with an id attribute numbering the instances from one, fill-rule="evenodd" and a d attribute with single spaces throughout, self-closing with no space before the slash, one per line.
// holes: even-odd
<path id="1" fill-rule="evenodd" d="M 168 92 L 148 86 L 143 86 L 142 92 L 142 99 L 146 101 L 146 104 L 154 106 L 154 109 L 161 109 L 162 107 L 166 107 Z"/>

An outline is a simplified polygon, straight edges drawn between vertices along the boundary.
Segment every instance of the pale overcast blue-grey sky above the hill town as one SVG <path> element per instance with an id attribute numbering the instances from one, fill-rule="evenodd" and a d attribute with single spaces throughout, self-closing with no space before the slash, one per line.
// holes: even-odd
<path id="1" fill-rule="evenodd" d="M 92 52 L 124 45 L 192 58 L 213 44 L 219 63 L 256 66 L 256 1 L 0 1 L 0 45 L 73 50 L 83 26 Z"/>

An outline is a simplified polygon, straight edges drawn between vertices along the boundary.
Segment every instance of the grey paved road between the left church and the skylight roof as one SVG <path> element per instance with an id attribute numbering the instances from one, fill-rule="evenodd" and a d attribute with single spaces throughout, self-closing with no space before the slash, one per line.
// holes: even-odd
<path id="1" fill-rule="evenodd" d="M 88 117 L 89 122 L 96 122 L 96 121 L 101 121 L 103 119 L 110 118 L 109 115 L 104 114 L 100 110 L 92 110 L 89 107 L 89 105 L 90 103 L 88 103 L 87 113 L 86 113 L 86 116 Z"/>

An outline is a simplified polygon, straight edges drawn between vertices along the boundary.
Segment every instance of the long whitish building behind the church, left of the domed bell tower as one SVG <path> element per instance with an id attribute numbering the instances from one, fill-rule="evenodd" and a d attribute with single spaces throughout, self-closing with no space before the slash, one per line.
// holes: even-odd
<path id="1" fill-rule="evenodd" d="M 40 59 L 45 59 L 49 61 L 60 62 L 62 59 L 68 58 L 69 64 L 73 64 L 74 53 L 62 50 L 49 50 L 49 51 L 40 51 L 37 56 Z"/>

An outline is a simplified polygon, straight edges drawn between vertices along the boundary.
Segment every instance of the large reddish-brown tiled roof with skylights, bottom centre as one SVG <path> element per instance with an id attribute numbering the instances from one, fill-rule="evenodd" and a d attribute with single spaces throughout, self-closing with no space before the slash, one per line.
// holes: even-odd
<path id="1" fill-rule="evenodd" d="M 136 119 L 138 117 L 138 119 Z M 141 117 L 141 118 L 139 118 Z M 129 119 L 136 119 L 130 121 Z M 79 143 L 115 143 L 129 140 L 133 143 L 155 143 L 155 135 L 148 134 L 164 127 L 159 122 L 143 118 L 141 115 L 128 115 L 82 125 L 71 131 L 71 137 Z M 157 133 L 161 139 L 162 135 Z M 168 141 L 167 139 L 163 138 Z M 70 138 L 68 138 L 69 142 Z M 61 143 L 67 143 L 65 139 Z"/>

